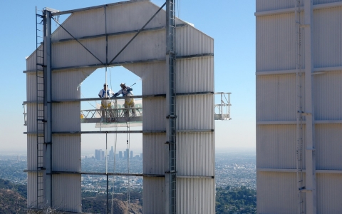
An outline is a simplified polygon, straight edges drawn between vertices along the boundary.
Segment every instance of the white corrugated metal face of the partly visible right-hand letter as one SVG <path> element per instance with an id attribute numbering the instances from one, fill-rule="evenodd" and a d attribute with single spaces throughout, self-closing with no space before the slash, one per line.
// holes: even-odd
<path id="1" fill-rule="evenodd" d="M 314 4 L 332 2 L 337 1 L 314 0 Z M 294 1 L 257 0 L 257 11 L 293 5 Z M 314 67 L 341 66 L 342 7 L 314 10 L 313 18 Z M 295 68 L 294 27 L 293 13 L 257 16 L 257 72 Z M 341 71 L 314 75 L 313 79 L 314 119 L 341 120 Z M 295 89 L 294 75 L 257 76 L 257 121 L 294 121 Z M 316 170 L 342 169 L 341 131 L 341 124 L 316 124 Z M 304 126 L 304 142 L 305 136 Z M 296 126 L 258 125 L 257 168 L 295 167 Z M 341 183 L 341 174 L 316 174 L 317 213 L 341 213 Z M 296 213 L 296 188 L 296 173 L 257 172 L 257 213 Z"/>

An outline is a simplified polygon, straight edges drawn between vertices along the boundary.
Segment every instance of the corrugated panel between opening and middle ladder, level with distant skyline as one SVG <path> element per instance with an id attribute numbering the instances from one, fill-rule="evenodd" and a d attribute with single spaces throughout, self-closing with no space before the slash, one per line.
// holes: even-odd
<path id="1" fill-rule="evenodd" d="M 144 174 L 164 175 L 165 171 L 167 171 L 168 153 L 165 142 L 165 133 L 142 134 L 142 159 L 144 160 L 142 168 Z"/>

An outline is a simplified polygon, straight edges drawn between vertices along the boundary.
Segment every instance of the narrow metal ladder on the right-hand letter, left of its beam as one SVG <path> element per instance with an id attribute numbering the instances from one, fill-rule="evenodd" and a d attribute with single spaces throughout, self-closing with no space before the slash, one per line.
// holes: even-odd
<path id="1" fill-rule="evenodd" d="M 296 108 L 297 108 L 297 126 L 296 126 L 296 177 L 297 177 L 297 201 L 298 213 L 305 213 L 305 184 L 303 177 L 303 46 L 302 46 L 302 18 L 301 18 L 301 0 L 295 0 L 295 21 L 296 21 Z"/>

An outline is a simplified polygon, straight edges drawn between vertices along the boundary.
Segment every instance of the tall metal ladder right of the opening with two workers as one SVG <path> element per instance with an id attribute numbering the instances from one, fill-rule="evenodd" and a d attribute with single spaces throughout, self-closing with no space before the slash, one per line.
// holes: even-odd
<path id="1" fill-rule="evenodd" d="M 170 16 L 167 17 L 169 19 L 169 40 L 167 41 L 169 44 L 168 54 L 169 54 L 169 105 L 170 105 L 170 114 L 168 116 L 169 119 L 169 190 L 170 190 L 170 214 L 177 213 L 176 207 L 176 51 L 175 51 L 175 37 L 176 37 L 176 7 L 175 0 L 167 1 L 167 7 L 170 11 Z"/>

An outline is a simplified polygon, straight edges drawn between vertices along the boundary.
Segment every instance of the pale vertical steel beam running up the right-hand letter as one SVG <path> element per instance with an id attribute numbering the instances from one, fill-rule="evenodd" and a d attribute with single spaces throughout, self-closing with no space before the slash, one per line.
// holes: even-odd
<path id="1" fill-rule="evenodd" d="M 315 154 L 315 125 L 313 102 L 313 77 L 314 71 L 312 52 L 312 24 L 313 24 L 313 0 L 304 1 L 304 61 L 305 61 L 305 105 L 306 113 L 306 213 L 316 214 L 316 154 Z"/>

